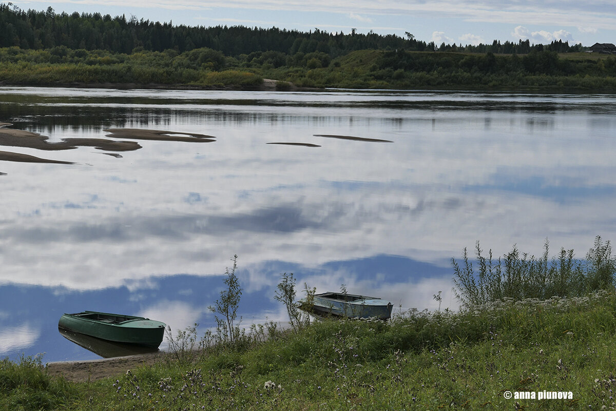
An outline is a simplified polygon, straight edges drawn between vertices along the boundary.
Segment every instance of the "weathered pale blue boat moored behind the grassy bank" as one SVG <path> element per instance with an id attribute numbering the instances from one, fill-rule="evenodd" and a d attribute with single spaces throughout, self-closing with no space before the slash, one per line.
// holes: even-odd
<path id="1" fill-rule="evenodd" d="M 326 292 L 314 295 L 312 307 L 306 307 L 306 301 L 300 300 L 309 311 L 320 316 L 347 318 L 378 318 L 387 320 L 391 317 L 392 303 L 377 297 L 347 293 Z"/>

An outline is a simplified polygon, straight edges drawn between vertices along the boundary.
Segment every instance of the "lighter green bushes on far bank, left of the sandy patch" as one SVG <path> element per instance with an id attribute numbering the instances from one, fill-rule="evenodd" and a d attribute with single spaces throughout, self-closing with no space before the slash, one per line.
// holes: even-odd
<path id="1" fill-rule="evenodd" d="M 0 79 L 8 84 L 160 84 L 168 86 L 254 86 L 262 78 L 246 71 L 216 71 L 225 57 L 210 49 L 111 54 L 54 47 L 0 49 Z"/>

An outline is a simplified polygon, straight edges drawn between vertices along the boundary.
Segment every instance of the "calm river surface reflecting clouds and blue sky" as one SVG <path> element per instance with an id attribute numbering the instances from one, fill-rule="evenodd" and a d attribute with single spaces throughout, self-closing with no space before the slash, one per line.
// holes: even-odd
<path id="1" fill-rule="evenodd" d="M 616 239 L 611 95 L 1 87 L 0 122 L 0 357 L 98 358 L 57 329 L 86 309 L 212 327 L 235 254 L 247 327 L 280 273 L 456 308 L 477 240 Z"/>

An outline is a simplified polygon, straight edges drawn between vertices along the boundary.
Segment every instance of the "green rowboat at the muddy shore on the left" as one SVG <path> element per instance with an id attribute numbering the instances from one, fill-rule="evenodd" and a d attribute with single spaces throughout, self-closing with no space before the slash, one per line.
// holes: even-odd
<path id="1" fill-rule="evenodd" d="M 84 311 L 63 314 L 58 327 L 116 343 L 158 348 L 163 341 L 166 324 L 144 317 Z"/>

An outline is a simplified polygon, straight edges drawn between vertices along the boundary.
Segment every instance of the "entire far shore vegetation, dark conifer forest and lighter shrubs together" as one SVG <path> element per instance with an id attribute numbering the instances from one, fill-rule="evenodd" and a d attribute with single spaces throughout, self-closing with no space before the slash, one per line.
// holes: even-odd
<path id="1" fill-rule="evenodd" d="M 616 58 L 580 44 L 426 43 L 375 33 L 187 27 L 0 5 L 0 84 L 616 90 Z"/>

